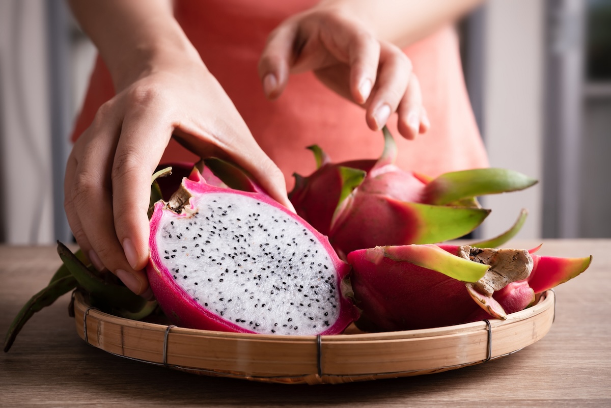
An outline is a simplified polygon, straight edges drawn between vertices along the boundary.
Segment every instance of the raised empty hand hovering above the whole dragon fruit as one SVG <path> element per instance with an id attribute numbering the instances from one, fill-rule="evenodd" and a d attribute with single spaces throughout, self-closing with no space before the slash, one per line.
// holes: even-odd
<path id="1" fill-rule="evenodd" d="M 268 98 L 279 97 L 290 73 L 308 70 L 329 89 L 365 107 L 373 130 L 381 129 L 393 112 L 407 139 L 430 127 L 408 57 L 378 40 L 345 9 L 318 5 L 291 16 L 269 35 L 258 67 Z"/>

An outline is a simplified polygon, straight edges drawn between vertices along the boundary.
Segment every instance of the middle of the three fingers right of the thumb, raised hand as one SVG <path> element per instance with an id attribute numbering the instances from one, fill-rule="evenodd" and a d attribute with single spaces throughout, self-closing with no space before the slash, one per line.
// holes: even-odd
<path id="1" fill-rule="evenodd" d="M 367 101 L 365 114 L 368 126 L 380 130 L 390 114 L 397 111 L 412 73 L 411 61 L 396 46 L 383 45 L 380 53 L 378 80 Z"/>

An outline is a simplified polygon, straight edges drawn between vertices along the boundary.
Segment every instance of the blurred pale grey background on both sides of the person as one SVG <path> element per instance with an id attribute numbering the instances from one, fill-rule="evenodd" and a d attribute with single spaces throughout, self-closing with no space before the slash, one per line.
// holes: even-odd
<path id="1" fill-rule="evenodd" d="M 538 178 L 485 197 L 476 235 L 611 237 L 611 0 L 490 0 L 459 22 L 464 73 L 494 167 Z M 63 0 L 0 0 L 0 242 L 71 241 L 68 134 L 95 49 Z"/>

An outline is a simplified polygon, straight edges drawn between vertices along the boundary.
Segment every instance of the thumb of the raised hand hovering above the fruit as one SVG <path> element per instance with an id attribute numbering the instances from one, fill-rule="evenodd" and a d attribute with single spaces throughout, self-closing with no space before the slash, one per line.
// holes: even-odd
<path id="1" fill-rule="evenodd" d="M 287 86 L 296 33 L 294 24 L 285 23 L 269 34 L 258 63 L 263 92 L 269 99 L 279 97 Z"/>

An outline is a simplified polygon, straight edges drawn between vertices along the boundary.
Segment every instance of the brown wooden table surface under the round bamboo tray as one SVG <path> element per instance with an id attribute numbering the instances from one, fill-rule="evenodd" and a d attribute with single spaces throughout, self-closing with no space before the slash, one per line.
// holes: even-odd
<path id="1" fill-rule="evenodd" d="M 0 356 L 0 407 L 611 407 L 611 240 L 545 240 L 540 255 L 594 260 L 557 288 L 556 318 L 546 337 L 499 360 L 341 385 L 196 376 L 88 346 L 68 317 L 66 295 L 37 313 Z M 7 246 L 0 246 L 0 260 L 4 335 L 60 261 L 54 247 Z"/>

